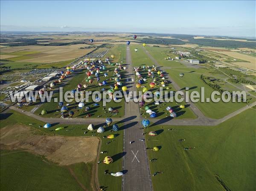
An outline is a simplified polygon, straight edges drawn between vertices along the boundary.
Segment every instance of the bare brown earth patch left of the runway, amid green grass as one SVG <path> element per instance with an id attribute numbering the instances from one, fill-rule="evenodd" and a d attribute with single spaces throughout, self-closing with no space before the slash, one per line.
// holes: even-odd
<path id="1" fill-rule="evenodd" d="M 39 135 L 39 130 L 20 124 L 1 128 L 0 135 L 1 149 L 24 149 L 59 165 L 95 161 L 99 145 L 95 137 Z"/>

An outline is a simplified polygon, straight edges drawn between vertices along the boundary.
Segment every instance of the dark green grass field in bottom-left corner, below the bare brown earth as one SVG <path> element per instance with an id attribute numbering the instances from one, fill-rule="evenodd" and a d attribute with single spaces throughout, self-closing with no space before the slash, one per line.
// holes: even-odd
<path id="1" fill-rule="evenodd" d="M 1 150 L 1 190 L 83 190 L 66 167 L 25 151 Z"/>

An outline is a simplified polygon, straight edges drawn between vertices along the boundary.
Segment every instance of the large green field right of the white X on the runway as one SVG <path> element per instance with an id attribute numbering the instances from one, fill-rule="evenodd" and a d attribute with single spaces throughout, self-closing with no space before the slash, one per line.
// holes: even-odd
<path id="1" fill-rule="evenodd" d="M 148 147 L 161 146 L 157 152 L 148 150 L 154 191 L 223 190 L 215 179 L 232 191 L 255 190 L 255 109 L 248 109 L 217 126 L 153 126 L 156 137 L 146 135 Z M 176 131 L 168 131 L 175 128 Z M 186 141 L 180 142 L 180 139 Z M 156 140 L 156 141 L 153 141 Z M 184 150 L 186 147 L 196 147 Z"/>

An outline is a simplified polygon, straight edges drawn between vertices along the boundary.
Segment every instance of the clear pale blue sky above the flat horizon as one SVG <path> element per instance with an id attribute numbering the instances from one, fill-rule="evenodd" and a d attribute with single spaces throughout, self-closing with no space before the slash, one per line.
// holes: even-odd
<path id="1" fill-rule="evenodd" d="M 1 31 L 255 37 L 256 1 L 0 1 Z"/>

